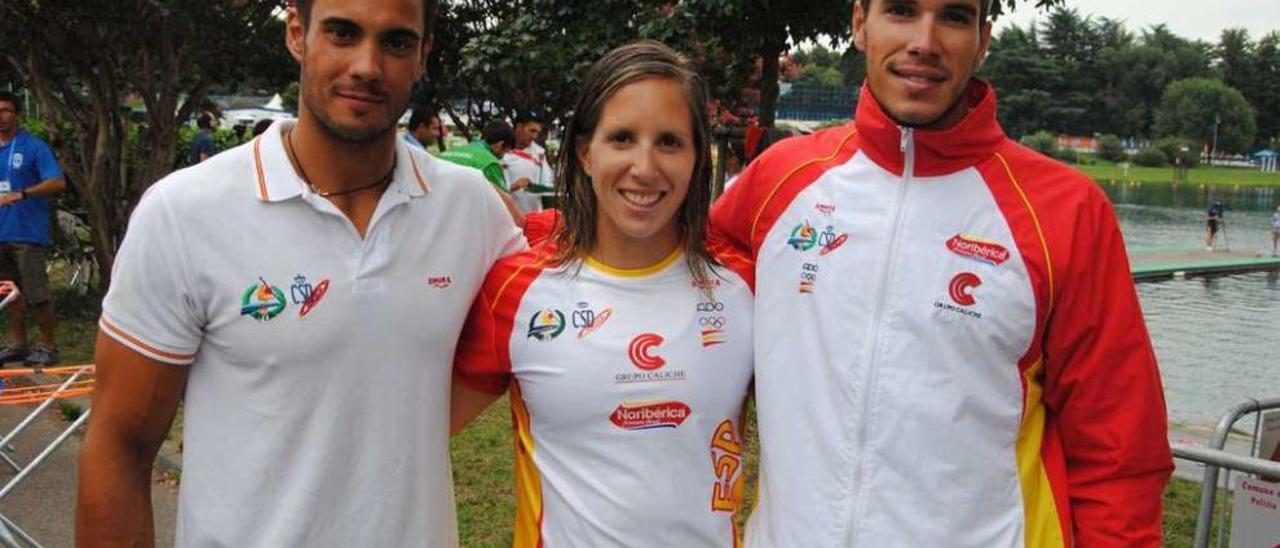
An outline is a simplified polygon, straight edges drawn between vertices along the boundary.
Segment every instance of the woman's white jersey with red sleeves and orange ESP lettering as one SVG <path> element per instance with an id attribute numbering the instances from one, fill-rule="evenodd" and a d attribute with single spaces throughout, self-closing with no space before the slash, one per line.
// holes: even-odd
<path id="1" fill-rule="evenodd" d="M 746 283 L 717 268 L 708 298 L 678 252 L 644 270 L 547 256 L 494 266 L 456 362 L 472 388 L 511 387 L 515 545 L 737 545 Z"/>

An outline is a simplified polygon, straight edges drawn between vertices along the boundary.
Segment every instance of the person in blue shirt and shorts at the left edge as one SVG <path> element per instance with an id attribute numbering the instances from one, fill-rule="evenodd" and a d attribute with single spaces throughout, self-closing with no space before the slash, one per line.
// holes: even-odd
<path id="1" fill-rule="evenodd" d="M 0 91 L 0 279 L 13 280 L 20 292 L 8 307 L 9 346 L 0 348 L 0 366 L 14 361 L 46 366 L 58 362 L 45 268 L 50 206 L 67 181 L 49 145 L 22 129 L 20 105 L 15 95 Z M 27 346 L 28 306 L 36 309 L 41 341 L 32 350 Z"/>

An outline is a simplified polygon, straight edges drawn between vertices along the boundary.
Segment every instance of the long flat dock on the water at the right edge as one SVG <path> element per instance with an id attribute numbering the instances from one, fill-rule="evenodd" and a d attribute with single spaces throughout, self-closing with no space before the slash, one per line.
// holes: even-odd
<path id="1" fill-rule="evenodd" d="M 1206 250 L 1180 247 L 1142 250 L 1129 254 L 1134 282 L 1211 274 L 1239 274 L 1258 270 L 1280 270 L 1280 257 L 1257 251 Z"/>

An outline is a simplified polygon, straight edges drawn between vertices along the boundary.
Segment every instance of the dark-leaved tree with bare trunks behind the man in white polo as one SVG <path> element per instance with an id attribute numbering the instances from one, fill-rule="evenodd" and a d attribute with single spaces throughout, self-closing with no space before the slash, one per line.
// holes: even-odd
<path id="1" fill-rule="evenodd" d="M 280 74 L 278 5 L 248 0 L 0 3 L 3 59 L 32 91 L 87 211 L 104 287 L 132 205 L 174 168 L 215 86 Z M 291 74 L 291 72 L 283 72 Z M 127 97 L 146 106 L 133 122 Z"/>

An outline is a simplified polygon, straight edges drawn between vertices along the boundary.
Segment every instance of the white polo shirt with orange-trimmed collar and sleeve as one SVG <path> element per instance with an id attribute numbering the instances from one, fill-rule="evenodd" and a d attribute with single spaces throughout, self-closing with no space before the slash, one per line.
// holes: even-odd
<path id="1" fill-rule="evenodd" d="M 156 183 L 102 330 L 189 364 L 178 545 L 452 547 L 454 346 L 524 247 L 480 172 L 396 141 L 361 238 L 270 131 Z"/>

